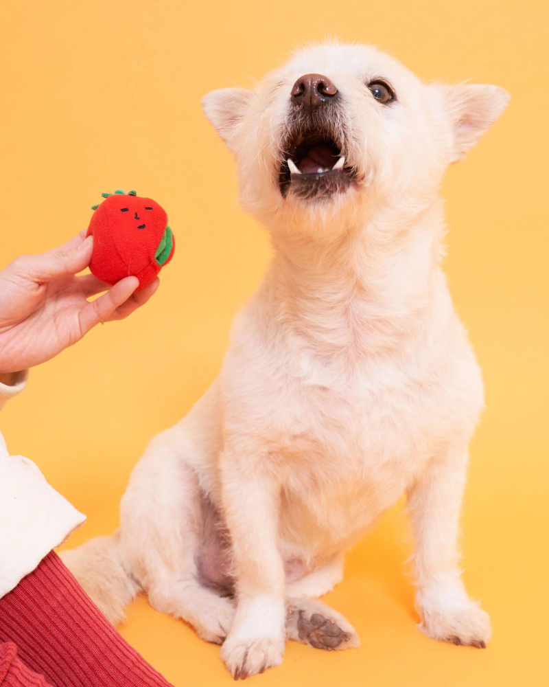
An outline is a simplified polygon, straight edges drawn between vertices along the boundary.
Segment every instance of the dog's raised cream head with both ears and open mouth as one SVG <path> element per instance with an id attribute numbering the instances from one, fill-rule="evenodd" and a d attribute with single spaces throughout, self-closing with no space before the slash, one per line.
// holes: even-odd
<path id="1" fill-rule="evenodd" d="M 508 102 L 496 86 L 428 85 L 377 49 L 330 43 L 202 104 L 235 155 L 244 207 L 272 228 L 318 231 L 387 205 L 421 211 Z"/>

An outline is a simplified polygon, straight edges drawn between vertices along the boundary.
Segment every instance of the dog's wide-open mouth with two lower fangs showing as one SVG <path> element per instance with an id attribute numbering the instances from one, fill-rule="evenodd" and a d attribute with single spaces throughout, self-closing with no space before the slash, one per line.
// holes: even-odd
<path id="1" fill-rule="evenodd" d="M 338 143 L 320 133 L 307 133 L 290 141 L 279 172 L 285 198 L 291 192 L 301 199 L 327 198 L 352 183 L 355 170 L 345 164 Z"/>

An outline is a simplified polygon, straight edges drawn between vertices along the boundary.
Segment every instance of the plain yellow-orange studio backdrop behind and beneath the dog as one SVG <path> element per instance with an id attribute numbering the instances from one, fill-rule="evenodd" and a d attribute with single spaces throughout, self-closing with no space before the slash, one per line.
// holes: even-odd
<path id="1" fill-rule="evenodd" d="M 546 685 L 548 539 L 548 83 L 545 2 L 3 0 L 0 263 L 86 227 L 102 191 L 135 188 L 170 214 L 176 256 L 128 322 L 99 327 L 32 372 L 3 411 L 12 453 L 87 513 L 76 545 L 117 524 L 150 437 L 217 374 L 231 318 L 261 278 L 266 236 L 237 207 L 233 164 L 200 111 L 297 43 L 376 43 L 426 79 L 493 82 L 513 100 L 449 170 L 446 270 L 487 383 L 465 502 L 465 579 L 491 613 L 486 651 L 415 624 L 402 506 L 349 554 L 327 601 L 360 649 L 290 643 L 270 685 Z M 139 599 L 122 633 L 176 687 L 230 684 L 218 647 Z"/>

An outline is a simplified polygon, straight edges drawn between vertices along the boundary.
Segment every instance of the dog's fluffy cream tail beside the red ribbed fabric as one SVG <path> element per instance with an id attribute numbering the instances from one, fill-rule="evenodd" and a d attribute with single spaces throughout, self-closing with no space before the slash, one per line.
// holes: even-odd
<path id="1" fill-rule="evenodd" d="M 118 532 L 90 539 L 60 556 L 107 620 L 115 625 L 125 620 L 124 609 L 139 592 L 139 584 L 124 570 Z"/>

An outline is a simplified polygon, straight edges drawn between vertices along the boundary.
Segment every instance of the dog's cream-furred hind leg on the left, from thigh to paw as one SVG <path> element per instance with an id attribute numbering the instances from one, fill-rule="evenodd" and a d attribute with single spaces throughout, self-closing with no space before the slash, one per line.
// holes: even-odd
<path id="1" fill-rule="evenodd" d="M 233 601 L 200 582 L 205 495 L 198 471 L 218 451 L 215 388 L 181 423 L 149 444 L 121 502 L 124 566 L 152 607 L 189 622 L 198 635 L 221 643 L 231 628 Z"/>

